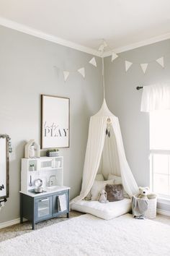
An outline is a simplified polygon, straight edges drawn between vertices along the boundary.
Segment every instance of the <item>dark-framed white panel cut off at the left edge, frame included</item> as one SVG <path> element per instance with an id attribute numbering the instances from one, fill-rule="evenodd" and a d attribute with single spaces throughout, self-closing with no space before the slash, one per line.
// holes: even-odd
<path id="1" fill-rule="evenodd" d="M 0 200 L 9 197 L 9 135 L 0 135 Z"/>

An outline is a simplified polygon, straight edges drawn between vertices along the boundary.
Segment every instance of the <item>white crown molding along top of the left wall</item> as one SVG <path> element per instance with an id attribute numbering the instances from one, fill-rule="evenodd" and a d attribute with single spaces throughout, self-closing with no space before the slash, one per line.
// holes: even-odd
<path id="1" fill-rule="evenodd" d="M 73 49 L 78 50 L 78 51 L 83 51 L 86 54 L 91 54 L 91 55 L 94 55 L 94 56 L 100 56 L 101 55 L 99 53 L 99 51 L 97 51 L 93 48 L 89 48 L 89 47 L 86 47 L 86 46 L 81 46 L 78 43 L 73 43 L 69 40 L 65 40 L 63 38 L 58 38 L 54 35 L 50 35 L 50 34 L 47 34 L 47 33 L 43 33 L 40 30 L 35 30 L 32 27 L 28 27 L 26 25 L 22 25 L 20 23 L 14 22 L 12 20 L 5 19 L 4 17 L 0 17 L 0 25 L 2 25 L 4 27 L 12 28 L 13 30 L 17 30 L 19 32 L 26 33 L 28 35 L 33 35 L 37 38 L 42 38 L 42 39 L 48 40 L 48 41 L 53 42 L 53 43 L 58 43 L 61 46 L 66 46 L 66 47 L 73 48 Z"/>

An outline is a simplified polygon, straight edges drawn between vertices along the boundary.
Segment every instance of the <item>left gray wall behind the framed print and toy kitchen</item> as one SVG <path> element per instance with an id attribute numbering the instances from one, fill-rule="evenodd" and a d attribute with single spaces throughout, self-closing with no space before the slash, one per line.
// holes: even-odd
<path id="1" fill-rule="evenodd" d="M 0 133 L 12 137 L 10 197 L 0 213 L 0 222 L 19 218 L 20 163 L 27 140 L 40 142 L 40 94 L 71 100 L 70 148 L 62 149 L 64 184 L 71 198 L 81 188 L 81 174 L 89 128 L 89 116 L 102 104 L 101 60 L 95 68 L 91 55 L 58 46 L 47 40 L 0 27 Z M 54 66 L 74 70 L 86 66 L 86 77 L 63 74 Z M 42 152 L 43 153 L 43 152 Z"/>

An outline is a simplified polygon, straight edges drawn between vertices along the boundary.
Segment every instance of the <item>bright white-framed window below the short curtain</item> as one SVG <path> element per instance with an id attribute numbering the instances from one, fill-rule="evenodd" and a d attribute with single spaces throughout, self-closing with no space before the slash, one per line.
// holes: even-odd
<path id="1" fill-rule="evenodd" d="M 170 111 L 150 112 L 151 188 L 170 198 Z"/>

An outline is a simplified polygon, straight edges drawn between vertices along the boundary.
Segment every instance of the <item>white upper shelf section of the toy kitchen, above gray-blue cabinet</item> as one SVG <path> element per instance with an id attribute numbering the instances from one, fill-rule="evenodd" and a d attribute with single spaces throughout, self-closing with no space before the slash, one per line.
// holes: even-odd
<path id="1" fill-rule="evenodd" d="M 31 166 L 35 170 L 31 171 Z M 56 186 L 63 186 L 63 156 L 22 158 L 21 192 L 35 188 L 35 180 L 42 179 L 42 188 L 49 187 L 50 176 L 56 177 Z M 30 182 L 32 186 L 30 186 Z"/>

